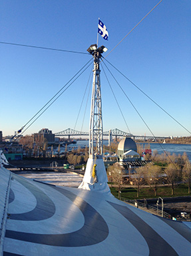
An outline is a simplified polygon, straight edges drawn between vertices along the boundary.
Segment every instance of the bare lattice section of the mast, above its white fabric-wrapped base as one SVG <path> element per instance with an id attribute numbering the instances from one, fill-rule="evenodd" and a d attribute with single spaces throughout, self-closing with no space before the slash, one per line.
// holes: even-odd
<path id="1" fill-rule="evenodd" d="M 93 76 L 93 91 L 91 99 L 91 118 L 89 129 L 89 156 L 102 156 L 102 104 L 100 92 L 100 52 L 95 51 L 94 57 L 94 76 Z"/>

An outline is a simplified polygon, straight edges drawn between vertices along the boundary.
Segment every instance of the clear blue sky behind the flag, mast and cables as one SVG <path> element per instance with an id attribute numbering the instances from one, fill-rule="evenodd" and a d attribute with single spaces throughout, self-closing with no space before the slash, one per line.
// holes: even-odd
<path id="1" fill-rule="evenodd" d="M 98 17 L 113 47 L 159 0 L 20 1 L 0 3 L 0 41 L 87 52 L 96 43 Z M 106 59 L 178 122 L 191 130 L 191 1 L 163 0 Z M 1 125 L 3 135 L 25 125 L 91 58 L 90 55 L 33 49 L 0 43 Z M 106 55 L 106 54 L 105 54 Z M 105 62 L 106 63 L 106 62 Z M 155 136 L 190 136 L 130 82 L 106 63 Z M 25 134 L 49 128 L 89 130 L 91 97 L 79 115 L 92 66 Z M 106 68 L 104 68 L 106 71 Z M 112 77 L 106 72 L 132 134 L 150 135 Z M 104 130 L 127 131 L 126 124 L 101 72 Z"/>

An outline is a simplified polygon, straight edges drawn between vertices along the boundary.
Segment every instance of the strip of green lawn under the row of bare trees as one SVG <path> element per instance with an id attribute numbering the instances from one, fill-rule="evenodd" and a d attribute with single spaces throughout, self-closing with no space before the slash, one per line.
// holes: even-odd
<path id="1" fill-rule="evenodd" d="M 118 191 L 116 188 L 110 188 L 112 195 L 118 197 Z M 140 196 L 136 197 L 136 188 L 124 188 L 121 190 L 121 197 L 126 199 L 152 199 L 158 197 L 185 197 L 191 196 L 188 194 L 188 186 L 186 184 L 179 184 L 174 186 L 174 196 L 171 195 L 170 186 L 160 186 L 157 189 L 157 196 L 154 197 L 153 188 L 141 188 Z"/>

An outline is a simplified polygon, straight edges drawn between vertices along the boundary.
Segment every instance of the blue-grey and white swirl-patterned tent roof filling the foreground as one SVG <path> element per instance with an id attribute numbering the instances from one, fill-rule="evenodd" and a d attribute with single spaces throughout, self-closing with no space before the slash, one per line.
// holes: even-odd
<path id="1" fill-rule="evenodd" d="M 190 256 L 190 222 L 159 218 L 110 193 L 43 184 L 2 165 L 0 255 Z"/>

